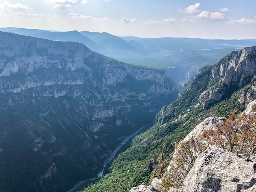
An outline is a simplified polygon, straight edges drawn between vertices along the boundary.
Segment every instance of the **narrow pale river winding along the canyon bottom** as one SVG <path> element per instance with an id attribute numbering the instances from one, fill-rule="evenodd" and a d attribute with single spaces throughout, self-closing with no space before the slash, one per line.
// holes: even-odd
<path id="1" fill-rule="evenodd" d="M 103 176 L 103 172 L 104 172 L 104 168 L 106 167 L 107 164 L 111 163 L 111 161 L 114 159 L 115 155 L 117 154 L 117 152 L 121 149 L 121 147 L 123 147 L 126 142 L 128 140 L 130 140 L 131 138 L 135 137 L 137 134 L 139 134 L 142 129 L 144 129 L 145 127 L 147 127 L 148 125 L 144 126 L 144 127 L 141 127 L 140 129 L 138 129 L 136 132 L 134 132 L 133 134 L 127 136 L 126 138 L 124 138 L 121 143 L 115 148 L 115 150 L 108 156 L 108 158 L 105 160 L 104 162 L 104 165 L 103 165 L 103 168 L 102 168 L 102 171 L 97 175 L 97 177 L 93 177 L 93 178 L 90 178 L 90 179 L 86 179 L 84 181 L 79 181 L 78 183 L 76 183 L 74 185 L 74 187 L 67 191 L 67 192 L 73 192 L 76 188 L 78 188 L 79 186 L 81 186 L 82 184 L 86 183 L 87 181 L 92 181 L 92 180 L 96 180 L 96 179 L 99 179 Z"/>

